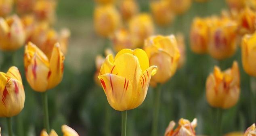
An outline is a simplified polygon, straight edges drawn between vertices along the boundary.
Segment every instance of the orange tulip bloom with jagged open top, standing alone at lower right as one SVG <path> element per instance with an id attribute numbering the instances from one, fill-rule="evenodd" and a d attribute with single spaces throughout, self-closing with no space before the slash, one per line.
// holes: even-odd
<path id="1" fill-rule="evenodd" d="M 214 72 L 206 80 L 206 98 L 212 107 L 228 109 L 233 107 L 240 95 L 239 67 L 234 61 L 231 69 L 220 71 L 215 66 Z"/>

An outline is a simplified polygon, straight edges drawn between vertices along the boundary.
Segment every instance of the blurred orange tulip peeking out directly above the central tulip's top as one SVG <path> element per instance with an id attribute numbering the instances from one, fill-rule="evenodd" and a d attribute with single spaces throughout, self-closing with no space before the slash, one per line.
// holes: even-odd
<path id="1" fill-rule="evenodd" d="M 111 41 L 116 52 L 125 48 L 135 49 L 130 38 L 130 33 L 127 29 L 121 28 L 115 31 L 113 36 L 111 36 Z"/>

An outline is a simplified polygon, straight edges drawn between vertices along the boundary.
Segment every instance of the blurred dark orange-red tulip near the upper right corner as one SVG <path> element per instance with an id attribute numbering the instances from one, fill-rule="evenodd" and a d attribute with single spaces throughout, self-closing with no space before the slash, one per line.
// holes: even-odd
<path id="1" fill-rule="evenodd" d="M 238 31 L 241 36 L 254 33 L 256 30 L 256 13 L 250 8 L 244 8 L 239 13 Z"/>

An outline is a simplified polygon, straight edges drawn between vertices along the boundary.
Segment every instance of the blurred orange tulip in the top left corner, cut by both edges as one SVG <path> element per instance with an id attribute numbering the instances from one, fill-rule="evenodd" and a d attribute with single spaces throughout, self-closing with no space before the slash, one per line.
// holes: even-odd
<path id="1" fill-rule="evenodd" d="M 0 0 L 0 17 L 10 14 L 13 10 L 13 0 Z"/>

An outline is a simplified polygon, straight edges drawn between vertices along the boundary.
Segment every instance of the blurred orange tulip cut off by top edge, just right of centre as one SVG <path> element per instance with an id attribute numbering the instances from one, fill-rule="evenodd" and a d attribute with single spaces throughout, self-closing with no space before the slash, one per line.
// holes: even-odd
<path id="1" fill-rule="evenodd" d="M 191 0 L 167 0 L 169 2 L 169 6 L 174 13 L 180 15 L 184 14 L 187 10 L 189 10 L 191 6 Z"/>

